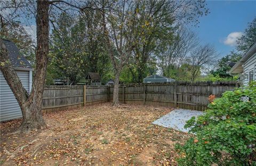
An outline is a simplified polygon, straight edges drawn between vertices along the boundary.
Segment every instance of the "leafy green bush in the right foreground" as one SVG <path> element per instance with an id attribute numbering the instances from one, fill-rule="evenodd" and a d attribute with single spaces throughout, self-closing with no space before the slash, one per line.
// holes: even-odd
<path id="1" fill-rule="evenodd" d="M 255 122 L 255 85 L 223 93 L 185 125 L 196 136 L 177 145 L 179 165 L 256 165 Z"/>

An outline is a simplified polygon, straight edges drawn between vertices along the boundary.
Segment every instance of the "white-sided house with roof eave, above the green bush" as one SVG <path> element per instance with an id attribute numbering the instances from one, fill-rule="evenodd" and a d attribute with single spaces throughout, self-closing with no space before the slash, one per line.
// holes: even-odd
<path id="1" fill-rule="evenodd" d="M 251 81 L 256 81 L 256 42 L 228 73 L 239 74 L 239 78 L 245 86 Z"/>

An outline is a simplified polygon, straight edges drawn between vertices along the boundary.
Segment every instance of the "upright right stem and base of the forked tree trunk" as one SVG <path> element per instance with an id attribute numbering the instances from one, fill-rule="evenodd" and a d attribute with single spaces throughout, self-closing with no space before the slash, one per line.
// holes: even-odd
<path id="1" fill-rule="evenodd" d="M 36 74 L 33 90 L 25 104 L 22 105 L 23 120 L 21 130 L 45 127 L 42 116 L 42 100 L 49 53 L 49 1 L 37 1 L 36 15 Z"/>

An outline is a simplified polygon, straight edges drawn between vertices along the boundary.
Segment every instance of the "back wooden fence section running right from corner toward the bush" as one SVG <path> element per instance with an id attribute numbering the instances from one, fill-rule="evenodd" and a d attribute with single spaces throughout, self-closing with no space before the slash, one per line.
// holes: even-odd
<path id="1" fill-rule="evenodd" d="M 203 111 L 211 94 L 220 97 L 225 91 L 234 90 L 238 82 L 168 82 L 127 84 L 119 86 L 119 101 L 153 106 L 171 106 Z M 110 98 L 113 99 L 110 88 Z"/>

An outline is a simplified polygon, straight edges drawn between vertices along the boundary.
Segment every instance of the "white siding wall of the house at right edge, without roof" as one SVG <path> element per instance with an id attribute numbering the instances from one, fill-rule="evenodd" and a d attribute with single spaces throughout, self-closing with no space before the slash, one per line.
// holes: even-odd
<path id="1" fill-rule="evenodd" d="M 254 53 L 249 59 L 244 63 L 244 75 L 247 75 L 244 78 L 244 85 L 247 86 L 249 84 L 249 72 L 253 71 L 253 80 L 256 81 L 256 53 Z"/>

